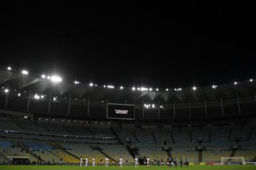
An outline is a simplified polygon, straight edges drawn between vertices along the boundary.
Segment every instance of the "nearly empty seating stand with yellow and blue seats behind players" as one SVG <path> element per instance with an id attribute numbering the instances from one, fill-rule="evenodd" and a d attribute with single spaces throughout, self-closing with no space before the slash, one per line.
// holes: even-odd
<path id="1" fill-rule="evenodd" d="M 120 156 L 128 162 L 133 162 L 135 152 L 141 158 L 149 156 L 151 161 L 154 158 L 163 158 L 166 162 L 169 155 L 163 149 L 164 147 L 170 149 L 172 158 L 182 157 L 185 160 L 187 157 L 190 162 L 220 162 L 221 157 L 230 156 L 245 157 L 245 161 L 252 162 L 255 161 L 256 156 L 255 129 L 247 124 L 147 127 L 124 123 L 112 128 L 105 125 L 81 127 L 79 125 L 35 123 L 28 120 L 2 119 L 0 121 L 1 163 L 8 162 L 10 156 L 29 157 L 30 162 L 42 161 L 50 164 L 79 164 L 80 156 L 84 159 L 88 157 L 89 162 L 95 157 L 96 163 L 106 156 L 113 159 L 113 162 L 117 161 Z M 30 138 L 26 133 L 30 134 Z M 33 139 L 31 135 L 35 137 L 40 135 L 41 138 Z M 49 141 L 57 135 L 63 135 L 66 139 Z M 89 142 L 79 141 L 83 135 L 88 135 Z M 96 138 L 102 136 L 104 140 L 99 139 L 100 142 L 95 142 Z M 23 139 L 16 139 L 17 137 Z M 117 143 L 104 144 L 102 142 L 106 137 L 120 140 Z M 73 142 L 65 141 L 69 139 Z M 131 144 L 127 139 L 131 140 Z M 166 143 L 163 142 L 165 139 Z M 202 143 L 199 140 L 202 140 Z M 135 150 L 127 149 L 127 145 Z M 234 146 L 237 146 L 235 151 Z M 202 159 L 200 153 L 202 153 Z"/>

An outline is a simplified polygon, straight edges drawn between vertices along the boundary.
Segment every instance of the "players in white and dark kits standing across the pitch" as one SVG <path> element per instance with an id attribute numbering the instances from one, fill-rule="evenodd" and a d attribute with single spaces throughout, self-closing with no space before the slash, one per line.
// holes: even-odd
<path id="1" fill-rule="evenodd" d="M 105 158 L 105 166 L 108 167 L 108 164 L 109 164 L 109 159 L 108 157 Z M 138 167 L 139 166 L 139 159 L 136 157 L 134 159 L 135 161 L 135 167 Z M 146 165 L 147 166 L 150 166 L 150 159 L 149 157 L 146 158 Z M 154 163 L 156 164 L 156 159 L 154 159 Z M 167 166 L 169 167 L 172 167 L 172 166 L 175 166 L 177 167 L 178 166 L 178 161 L 177 161 L 177 158 L 174 157 L 174 160 L 172 160 L 171 158 L 167 159 L 167 162 L 166 162 Z M 80 157 L 80 166 L 83 165 L 83 157 Z M 89 160 L 88 160 L 88 157 L 86 157 L 85 159 L 85 166 L 89 166 Z M 103 160 L 100 159 L 100 165 L 103 166 Z M 163 165 L 163 159 L 161 159 L 161 165 Z M 189 166 L 189 161 L 187 160 L 187 157 L 185 159 L 185 165 L 188 167 Z M 91 163 L 91 166 L 95 166 L 95 158 L 93 157 L 92 159 L 92 163 Z M 119 158 L 119 166 L 120 167 L 123 167 L 123 159 L 122 157 Z M 180 157 L 180 167 L 183 166 L 183 161 L 182 161 L 182 157 Z"/>

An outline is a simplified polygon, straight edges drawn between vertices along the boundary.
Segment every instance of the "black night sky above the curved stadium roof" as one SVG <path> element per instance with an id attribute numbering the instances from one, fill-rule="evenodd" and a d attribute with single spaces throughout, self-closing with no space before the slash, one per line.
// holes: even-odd
<path id="1" fill-rule="evenodd" d="M 0 64 L 38 74 L 162 88 L 256 75 L 252 4 L 12 3 L 0 18 Z"/>

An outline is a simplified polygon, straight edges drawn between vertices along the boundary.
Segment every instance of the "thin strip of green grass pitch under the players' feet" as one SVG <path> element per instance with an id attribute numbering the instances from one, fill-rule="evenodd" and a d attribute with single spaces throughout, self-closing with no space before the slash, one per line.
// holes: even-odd
<path id="1" fill-rule="evenodd" d="M 81 170 L 81 169 L 111 169 L 111 170 L 117 170 L 117 169 L 127 169 L 127 170 L 149 170 L 149 169 L 170 169 L 170 167 L 167 166 L 140 166 L 138 168 L 135 168 L 134 166 L 127 166 L 120 168 L 119 166 L 96 166 L 96 167 L 80 167 L 80 166 L 0 166 L 1 170 Z M 172 169 L 187 169 L 187 170 L 236 170 L 236 169 L 256 169 L 256 166 L 189 166 L 189 167 L 172 167 Z"/>

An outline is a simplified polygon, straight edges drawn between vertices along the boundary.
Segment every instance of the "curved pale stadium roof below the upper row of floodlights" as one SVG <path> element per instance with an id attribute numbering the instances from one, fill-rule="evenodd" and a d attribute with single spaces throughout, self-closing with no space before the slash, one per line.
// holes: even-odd
<path id="1" fill-rule="evenodd" d="M 116 103 L 149 103 L 160 101 L 160 103 L 177 103 L 201 102 L 201 101 L 219 101 L 222 99 L 235 99 L 255 96 L 256 83 L 253 79 L 247 81 L 230 82 L 228 84 L 211 85 L 207 87 L 196 88 L 179 88 L 159 89 L 149 91 L 146 88 L 141 91 L 135 87 L 99 85 L 90 84 L 90 82 L 65 81 L 54 77 L 59 83 L 47 79 L 47 76 L 31 74 L 26 71 L 19 71 L 8 67 L 0 69 L 0 84 L 2 89 L 9 91 L 19 91 L 32 94 L 48 95 L 66 98 L 71 96 L 72 99 L 87 100 L 90 96 L 91 101 L 111 101 Z M 55 80 L 54 80 L 55 81 Z"/>

